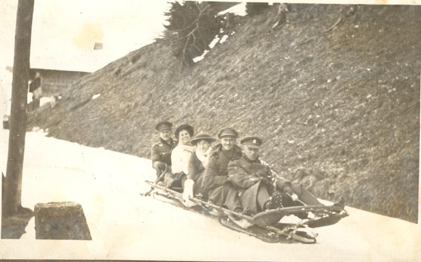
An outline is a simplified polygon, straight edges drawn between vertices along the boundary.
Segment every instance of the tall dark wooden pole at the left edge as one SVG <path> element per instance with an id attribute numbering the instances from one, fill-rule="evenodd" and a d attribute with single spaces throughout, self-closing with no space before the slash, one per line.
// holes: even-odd
<path id="1" fill-rule="evenodd" d="M 9 151 L 4 185 L 5 199 L 2 201 L 3 217 L 10 216 L 21 208 L 33 12 L 34 0 L 19 0 L 15 31 L 12 105 L 9 120 Z"/>

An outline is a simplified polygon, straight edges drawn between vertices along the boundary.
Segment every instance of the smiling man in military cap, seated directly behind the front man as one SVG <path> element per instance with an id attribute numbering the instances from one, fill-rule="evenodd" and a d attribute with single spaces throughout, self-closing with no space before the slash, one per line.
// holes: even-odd
<path id="1" fill-rule="evenodd" d="M 204 170 L 202 192 L 208 200 L 232 210 L 241 208 L 238 194 L 228 179 L 228 163 L 241 157 L 241 148 L 236 145 L 238 132 L 227 127 L 218 132 L 221 143 L 212 148 Z"/>

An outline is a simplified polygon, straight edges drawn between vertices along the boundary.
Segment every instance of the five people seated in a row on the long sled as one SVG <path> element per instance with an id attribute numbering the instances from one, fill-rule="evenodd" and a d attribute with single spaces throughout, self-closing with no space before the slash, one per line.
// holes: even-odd
<path id="1" fill-rule="evenodd" d="M 322 205 L 303 186 L 294 185 L 275 174 L 259 159 L 263 143 L 258 136 L 245 136 L 237 143 L 238 132 L 222 128 L 217 139 L 183 124 L 172 135 L 172 123 L 156 125 L 160 139 L 151 148 L 152 165 L 165 187 L 182 191 L 184 205 L 194 206 L 190 197 L 228 208 L 238 213 L 255 215 L 269 209 L 300 205 Z M 306 214 L 305 214 L 306 216 Z M 244 224 L 240 218 L 236 223 Z"/>

